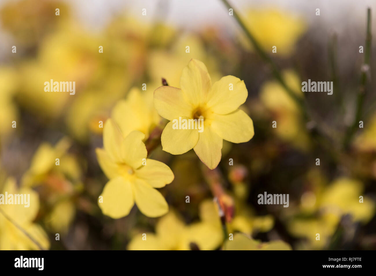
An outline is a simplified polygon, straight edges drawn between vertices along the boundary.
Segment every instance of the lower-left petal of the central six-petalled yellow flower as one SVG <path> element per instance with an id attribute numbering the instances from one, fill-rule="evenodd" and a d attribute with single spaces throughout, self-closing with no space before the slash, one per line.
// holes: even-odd
<path id="1" fill-rule="evenodd" d="M 188 117 L 182 117 L 182 120 Z M 179 121 L 179 119 L 177 119 Z M 173 129 L 174 120 L 164 128 L 161 136 L 162 148 L 171 154 L 183 154 L 191 150 L 199 140 L 197 129 Z"/>

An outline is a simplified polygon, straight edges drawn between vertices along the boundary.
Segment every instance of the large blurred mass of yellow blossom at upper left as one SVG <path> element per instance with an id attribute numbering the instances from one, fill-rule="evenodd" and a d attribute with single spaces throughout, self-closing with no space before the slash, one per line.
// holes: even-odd
<path id="1" fill-rule="evenodd" d="M 66 113 L 66 123 L 75 138 L 85 141 L 91 120 L 109 111 L 136 77 L 131 43 L 106 42 L 103 34 L 91 34 L 79 24 L 62 21 L 58 30 L 41 42 L 36 59 L 20 68 L 18 101 L 27 110 L 48 120 Z M 99 52 L 103 46 L 103 52 Z M 56 66 L 59 64 L 59 66 Z M 71 81 L 75 94 L 45 92 L 45 81 Z M 111 93 L 108 93 L 111 91 Z"/>

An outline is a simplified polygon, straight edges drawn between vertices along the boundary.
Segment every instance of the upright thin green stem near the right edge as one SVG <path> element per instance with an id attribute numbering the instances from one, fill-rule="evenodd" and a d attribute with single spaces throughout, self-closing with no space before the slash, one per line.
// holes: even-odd
<path id="1" fill-rule="evenodd" d="M 370 72 L 370 57 L 371 57 L 371 9 L 367 9 L 367 34 L 365 38 L 365 49 L 364 49 L 364 63 L 362 65 L 362 73 L 360 77 L 360 86 L 358 90 L 358 96 L 356 99 L 356 111 L 355 117 L 352 125 L 350 126 L 349 130 L 347 131 L 347 135 L 344 139 L 344 147 L 348 147 L 351 141 L 352 136 L 356 132 L 356 127 L 361 119 L 362 116 L 362 107 L 365 98 L 366 86 L 367 86 L 367 78 Z"/>

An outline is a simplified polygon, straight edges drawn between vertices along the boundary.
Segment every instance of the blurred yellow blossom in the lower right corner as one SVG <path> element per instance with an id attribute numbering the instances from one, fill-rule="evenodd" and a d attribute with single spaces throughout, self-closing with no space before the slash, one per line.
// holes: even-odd
<path id="1" fill-rule="evenodd" d="M 362 195 L 362 189 L 362 183 L 358 180 L 338 178 L 326 189 L 305 195 L 302 201 L 309 202 L 302 204 L 312 205 L 309 210 L 317 211 L 317 216 L 292 219 L 288 223 L 290 233 L 305 237 L 309 242 L 305 245 L 308 248 L 321 249 L 327 246 L 343 215 L 350 214 L 354 221 L 367 223 L 375 213 L 375 202 Z M 363 196 L 363 203 L 359 202 L 359 196 Z M 306 208 L 302 210 L 307 211 Z M 316 240 L 316 234 L 320 234 L 320 240 Z"/>

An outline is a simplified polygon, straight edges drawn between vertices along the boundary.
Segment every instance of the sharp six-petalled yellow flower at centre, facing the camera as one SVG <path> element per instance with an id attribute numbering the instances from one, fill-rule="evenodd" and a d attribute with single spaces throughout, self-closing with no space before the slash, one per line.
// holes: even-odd
<path id="1" fill-rule="evenodd" d="M 223 139 L 241 143 L 254 135 L 252 119 L 238 109 L 247 99 L 247 88 L 233 76 L 212 85 L 206 66 L 195 59 L 183 69 L 180 87 L 161 86 L 154 92 L 156 110 L 170 120 L 161 136 L 163 150 L 182 154 L 193 148 L 200 160 L 214 169 L 221 160 Z M 182 119 L 198 119 L 196 129 L 185 129 L 183 124 L 176 129 L 176 122 Z"/>

